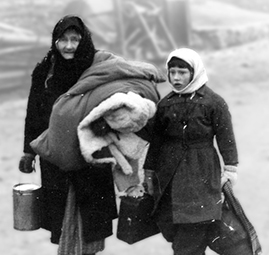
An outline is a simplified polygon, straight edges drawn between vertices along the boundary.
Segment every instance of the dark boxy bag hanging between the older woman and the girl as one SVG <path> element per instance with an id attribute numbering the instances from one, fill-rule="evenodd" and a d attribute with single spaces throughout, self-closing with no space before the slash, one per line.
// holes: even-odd
<path id="1" fill-rule="evenodd" d="M 148 194 L 137 198 L 121 197 L 117 238 L 133 244 L 160 233 L 151 217 L 153 207 L 154 199 Z"/>

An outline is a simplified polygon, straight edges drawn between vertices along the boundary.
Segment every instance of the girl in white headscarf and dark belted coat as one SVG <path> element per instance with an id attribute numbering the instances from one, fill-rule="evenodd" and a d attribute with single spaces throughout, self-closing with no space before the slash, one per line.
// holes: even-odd
<path id="1" fill-rule="evenodd" d="M 161 232 L 172 242 L 175 255 L 201 255 L 208 246 L 219 254 L 252 254 L 246 237 L 227 238 L 225 245 L 217 241 L 222 185 L 237 179 L 228 106 L 206 85 L 206 70 L 195 51 L 171 52 L 166 67 L 172 92 L 159 102 L 144 165 L 156 172 L 159 182 L 154 215 Z"/>

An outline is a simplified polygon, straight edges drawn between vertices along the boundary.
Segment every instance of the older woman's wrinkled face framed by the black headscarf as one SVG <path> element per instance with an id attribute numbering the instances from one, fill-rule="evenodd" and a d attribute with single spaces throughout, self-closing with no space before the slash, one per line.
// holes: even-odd
<path id="1" fill-rule="evenodd" d="M 72 59 L 81 40 L 81 35 L 74 29 L 66 30 L 56 41 L 56 48 L 63 58 Z"/>

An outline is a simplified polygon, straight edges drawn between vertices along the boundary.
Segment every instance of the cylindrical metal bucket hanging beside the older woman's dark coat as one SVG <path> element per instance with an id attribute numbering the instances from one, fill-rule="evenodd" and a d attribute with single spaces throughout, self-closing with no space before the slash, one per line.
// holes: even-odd
<path id="1" fill-rule="evenodd" d="M 41 226 L 41 186 L 19 183 L 13 187 L 14 229 L 36 230 Z"/>

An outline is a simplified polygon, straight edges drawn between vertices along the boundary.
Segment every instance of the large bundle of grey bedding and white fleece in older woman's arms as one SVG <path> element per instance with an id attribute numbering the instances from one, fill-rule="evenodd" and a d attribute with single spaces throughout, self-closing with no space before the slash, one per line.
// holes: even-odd
<path id="1" fill-rule="evenodd" d="M 114 126 L 112 130 L 120 132 L 121 141 L 132 139 L 139 145 L 143 144 L 134 133 L 153 116 L 159 99 L 156 83 L 163 81 L 164 75 L 151 64 L 127 61 L 105 51 L 97 52 L 93 65 L 55 102 L 49 128 L 31 143 L 32 148 L 64 171 L 78 170 L 88 163 L 117 164 L 115 157 L 124 157 L 120 154 L 126 146 L 115 144 L 114 132 L 105 138 L 94 139 L 94 134 L 89 132 L 90 124 L 104 116 L 108 120 L 110 112 L 119 115 L 124 109 L 122 116 L 125 116 L 125 124 L 128 119 L 127 128 L 117 130 Z M 110 125 L 113 123 L 115 125 L 115 119 L 110 121 Z M 112 157 L 95 159 L 94 152 L 103 147 L 110 148 Z M 125 161 L 121 162 L 124 164 Z M 128 171 L 130 173 L 131 170 Z"/>

